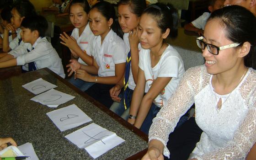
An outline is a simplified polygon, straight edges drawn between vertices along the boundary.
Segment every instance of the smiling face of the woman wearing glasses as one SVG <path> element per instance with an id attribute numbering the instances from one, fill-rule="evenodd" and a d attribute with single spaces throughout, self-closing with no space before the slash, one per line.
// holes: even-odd
<path id="1" fill-rule="evenodd" d="M 220 24 L 219 19 L 213 19 L 207 22 L 204 30 L 203 41 L 215 46 L 221 47 L 232 44 L 226 36 L 226 31 L 223 25 Z M 216 75 L 232 70 L 235 65 L 239 65 L 242 58 L 238 57 L 238 49 L 227 48 L 220 50 L 218 55 L 209 53 L 208 49 L 203 49 L 203 57 L 205 59 L 205 66 L 209 74 Z"/>

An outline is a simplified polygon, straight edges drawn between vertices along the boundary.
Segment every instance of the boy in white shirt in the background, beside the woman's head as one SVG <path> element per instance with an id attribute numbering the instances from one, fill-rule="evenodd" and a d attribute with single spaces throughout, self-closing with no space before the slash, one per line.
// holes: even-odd
<path id="1" fill-rule="evenodd" d="M 209 0 L 208 10 L 213 12 L 224 6 L 224 0 Z M 203 35 L 204 26 L 211 13 L 204 12 L 202 16 L 199 16 L 196 20 L 186 24 L 184 29 L 187 31 L 197 32 L 199 36 Z"/>

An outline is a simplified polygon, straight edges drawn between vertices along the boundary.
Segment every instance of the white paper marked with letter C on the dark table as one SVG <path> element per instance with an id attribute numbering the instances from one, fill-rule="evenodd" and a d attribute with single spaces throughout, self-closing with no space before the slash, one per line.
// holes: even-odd
<path id="1" fill-rule="evenodd" d="M 58 107 L 59 105 L 72 100 L 73 98 L 75 98 L 75 96 L 51 89 L 31 98 L 30 100 L 47 105 L 48 107 Z"/>

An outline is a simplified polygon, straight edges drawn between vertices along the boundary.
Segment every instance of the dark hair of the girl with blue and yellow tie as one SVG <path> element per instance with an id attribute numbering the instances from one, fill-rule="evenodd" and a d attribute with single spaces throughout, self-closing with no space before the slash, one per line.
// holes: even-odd
<path id="1" fill-rule="evenodd" d="M 131 12 L 140 17 L 146 8 L 146 0 L 120 0 L 117 5 L 129 5 Z"/>

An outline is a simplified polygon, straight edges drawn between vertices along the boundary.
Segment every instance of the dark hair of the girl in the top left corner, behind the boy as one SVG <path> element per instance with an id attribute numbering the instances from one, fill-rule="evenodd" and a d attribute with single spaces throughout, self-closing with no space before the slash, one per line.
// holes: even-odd
<path id="1" fill-rule="evenodd" d="M 17 0 L 13 8 L 18 11 L 21 17 L 35 16 L 37 14 L 34 5 L 29 0 Z"/>

